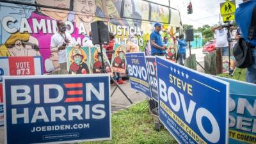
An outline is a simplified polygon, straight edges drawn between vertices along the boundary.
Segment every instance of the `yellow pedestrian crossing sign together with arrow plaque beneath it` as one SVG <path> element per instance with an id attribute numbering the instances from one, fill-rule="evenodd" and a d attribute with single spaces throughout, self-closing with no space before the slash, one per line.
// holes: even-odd
<path id="1" fill-rule="evenodd" d="M 220 13 L 223 17 L 223 21 L 234 20 L 236 12 L 236 1 L 227 0 L 225 3 L 220 4 Z"/>

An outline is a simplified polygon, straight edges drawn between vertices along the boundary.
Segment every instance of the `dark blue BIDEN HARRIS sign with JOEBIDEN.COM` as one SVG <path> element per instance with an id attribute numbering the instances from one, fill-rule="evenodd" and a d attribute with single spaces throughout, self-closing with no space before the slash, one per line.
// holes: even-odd
<path id="1" fill-rule="evenodd" d="M 3 77 L 5 143 L 111 140 L 109 75 Z"/>

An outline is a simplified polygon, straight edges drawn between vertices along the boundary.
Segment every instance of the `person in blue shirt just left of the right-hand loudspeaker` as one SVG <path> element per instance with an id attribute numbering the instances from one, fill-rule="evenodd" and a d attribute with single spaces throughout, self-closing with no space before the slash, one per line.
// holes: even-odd
<path id="1" fill-rule="evenodd" d="M 178 40 L 179 44 L 179 51 L 178 51 L 178 60 L 180 65 L 184 65 L 184 60 L 186 59 L 186 49 L 187 49 L 187 42 L 184 39 L 184 35 L 179 36 Z"/>

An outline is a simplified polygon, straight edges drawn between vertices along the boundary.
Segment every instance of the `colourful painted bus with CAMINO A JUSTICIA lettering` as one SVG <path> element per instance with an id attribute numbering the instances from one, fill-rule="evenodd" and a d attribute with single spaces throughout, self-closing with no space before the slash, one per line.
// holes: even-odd
<path id="1" fill-rule="evenodd" d="M 146 51 L 155 22 L 175 33 L 180 13 L 170 1 L 144 0 L 0 0 L 0 56 L 42 56 L 44 73 L 58 68 L 58 54 L 51 53 L 56 20 L 63 20 L 77 44 L 84 45 L 95 20 L 108 22 L 118 44 L 136 35 L 140 51 Z M 169 4 L 169 5 L 168 5 Z"/>

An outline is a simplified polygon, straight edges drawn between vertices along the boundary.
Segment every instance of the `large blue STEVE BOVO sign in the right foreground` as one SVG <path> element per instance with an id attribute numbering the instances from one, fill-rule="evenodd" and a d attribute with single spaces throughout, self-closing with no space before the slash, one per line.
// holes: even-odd
<path id="1" fill-rule="evenodd" d="M 228 143 L 229 85 L 156 58 L 159 119 L 179 143 Z"/>

